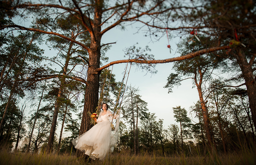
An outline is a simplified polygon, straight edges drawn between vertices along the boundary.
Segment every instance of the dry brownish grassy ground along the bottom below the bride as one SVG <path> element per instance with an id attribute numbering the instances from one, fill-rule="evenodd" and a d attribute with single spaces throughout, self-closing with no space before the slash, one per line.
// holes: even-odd
<path id="1" fill-rule="evenodd" d="M 104 161 L 84 160 L 70 155 L 57 154 L 25 154 L 9 153 L 6 150 L 0 152 L 0 164 L 2 165 L 255 165 L 256 153 L 252 150 L 240 153 L 218 155 L 216 153 L 207 156 L 154 156 L 154 155 L 128 155 L 111 154 Z"/>

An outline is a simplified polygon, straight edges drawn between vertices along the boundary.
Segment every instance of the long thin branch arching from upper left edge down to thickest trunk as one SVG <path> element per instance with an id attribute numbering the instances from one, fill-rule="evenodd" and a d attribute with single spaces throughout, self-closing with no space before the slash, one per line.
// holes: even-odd
<path id="1" fill-rule="evenodd" d="M 48 31 L 44 31 L 44 30 L 40 30 L 40 29 L 35 29 L 35 28 L 27 28 L 27 27 L 23 27 L 23 26 L 19 26 L 19 25 L 6 25 L 6 26 L 2 26 L 0 27 L 0 30 L 5 29 L 5 28 L 17 28 L 17 30 L 29 30 L 29 31 L 37 31 L 40 33 L 45 33 L 45 34 L 51 34 L 51 35 L 55 35 L 55 36 L 59 36 L 62 37 L 66 40 L 69 40 L 73 43 L 76 43 L 78 45 L 80 45 L 81 47 L 85 48 L 87 51 L 89 50 L 89 48 L 87 46 L 85 46 L 84 44 L 82 44 L 81 42 L 78 42 L 76 40 L 73 40 L 72 38 L 66 37 L 62 34 L 59 33 L 55 33 L 55 32 L 48 32 Z"/>

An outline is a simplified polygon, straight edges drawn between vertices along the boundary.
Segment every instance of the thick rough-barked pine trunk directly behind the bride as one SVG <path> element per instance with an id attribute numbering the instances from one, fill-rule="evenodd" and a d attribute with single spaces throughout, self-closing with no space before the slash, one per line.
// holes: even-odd
<path id="1" fill-rule="evenodd" d="M 99 101 L 100 72 L 95 72 L 95 69 L 100 68 L 100 41 L 102 35 L 100 26 L 102 14 L 101 8 L 96 7 L 95 13 L 93 20 L 94 29 L 93 31 L 90 31 L 91 44 L 88 50 L 89 59 L 85 87 L 85 103 L 79 135 L 82 135 L 92 127 L 87 112 L 95 112 Z M 84 155 L 82 151 L 77 151 L 77 156 L 82 155 Z"/>

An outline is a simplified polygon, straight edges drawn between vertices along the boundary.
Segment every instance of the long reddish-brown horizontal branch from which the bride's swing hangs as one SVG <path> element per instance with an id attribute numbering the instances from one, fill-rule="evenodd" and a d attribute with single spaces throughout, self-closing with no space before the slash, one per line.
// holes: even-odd
<path id="1" fill-rule="evenodd" d="M 222 46 L 222 47 L 212 47 L 212 48 L 208 48 L 208 49 L 203 49 L 200 51 L 196 51 L 193 53 L 189 53 L 187 55 L 184 56 L 180 56 L 180 57 L 175 57 L 175 58 L 168 58 L 165 60 L 138 60 L 138 59 L 128 59 L 128 60 L 118 60 L 118 61 L 112 61 L 110 63 L 108 63 L 107 65 L 104 65 L 100 68 L 95 69 L 95 72 L 100 72 L 101 70 L 108 68 L 111 65 L 114 64 L 119 64 L 119 63 L 127 63 L 127 62 L 135 62 L 135 63 L 141 63 L 141 64 L 161 64 L 161 63 L 168 63 L 168 62 L 174 62 L 174 61 L 181 61 L 181 60 L 185 60 L 185 59 L 190 59 L 193 57 L 196 57 L 198 55 L 201 54 L 205 54 L 205 53 L 210 53 L 210 52 L 214 52 L 214 51 L 219 51 L 219 50 L 223 50 L 223 49 L 229 49 L 229 46 Z"/>

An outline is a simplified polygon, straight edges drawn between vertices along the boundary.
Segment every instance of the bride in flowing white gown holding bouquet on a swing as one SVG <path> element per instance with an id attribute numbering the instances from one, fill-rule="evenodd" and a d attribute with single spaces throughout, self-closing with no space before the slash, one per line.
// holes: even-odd
<path id="1" fill-rule="evenodd" d="M 117 142 L 119 122 L 117 122 L 115 132 L 112 132 L 110 120 L 113 114 L 108 110 L 106 103 L 102 104 L 102 110 L 96 121 L 97 124 L 72 141 L 76 149 L 84 151 L 93 160 L 95 158 L 104 160 L 110 151 L 113 152 L 113 147 Z M 116 117 L 117 115 L 114 116 Z"/>

